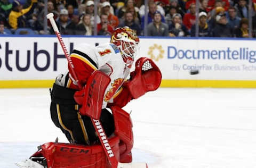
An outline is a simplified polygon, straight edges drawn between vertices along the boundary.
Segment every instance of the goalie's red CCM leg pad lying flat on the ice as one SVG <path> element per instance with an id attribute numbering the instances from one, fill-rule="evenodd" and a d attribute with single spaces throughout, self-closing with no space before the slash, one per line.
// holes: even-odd
<path id="1" fill-rule="evenodd" d="M 117 160 L 119 160 L 119 138 L 110 138 L 109 144 L 115 153 Z M 41 149 L 42 150 L 39 150 L 31 157 L 44 156 L 47 161 L 47 166 L 51 168 L 111 168 L 101 145 L 84 146 L 48 142 L 43 144 Z"/>

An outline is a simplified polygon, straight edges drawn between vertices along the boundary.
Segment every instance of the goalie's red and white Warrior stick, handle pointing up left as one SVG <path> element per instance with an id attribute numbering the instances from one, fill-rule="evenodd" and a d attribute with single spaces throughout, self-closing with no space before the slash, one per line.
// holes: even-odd
<path id="1" fill-rule="evenodd" d="M 60 43 L 60 45 L 62 47 L 62 50 L 63 50 L 63 52 L 65 54 L 65 57 L 68 60 L 68 65 L 69 65 L 70 70 L 71 70 L 70 73 L 72 74 L 72 76 L 75 79 L 74 82 L 78 85 L 79 89 L 81 90 L 82 89 L 82 85 L 81 85 L 81 83 L 79 82 L 79 80 L 77 78 L 77 75 L 76 75 L 75 70 L 74 70 L 74 64 L 73 64 L 73 62 L 72 62 L 72 60 L 71 60 L 71 58 L 70 58 L 70 56 L 68 54 L 67 48 L 66 48 L 66 46 L 65 46 L 65 44 L 64 44 L 64 42 L 62 40 L 62 37 L 61 37 L 60 32 L 59 32 L 59 29 L 58 29 L 58 27 L 57 27 L 57 25 L 55 23 L 55 20 L 53 19 L 53 13 L 47 14 L 46 17 L 47 17 L 47 19 L 50 20 L 50 22 L 52 24 L 52 28 L 53 28 L 53 30 L 55 32 L 55 35 L 57 36 L 57 38 L 59 40 L 59 43 Z M 118 161 L 117 161 L 117 159 L 116 159 L 116 157 L 115 157 L 115 155 L 113 153 L 113 150 L 111 149 L 111 146 L 108 143 L 108 139 L 106 138 L 107 137 L 106 133 L 103 130 L 103 127 L 102 127 L 102 124 L 101 124 L 100 120 L 94 120 L 92 117 L 90 117 L 90 118 L 91 118 L 91 121 L 92 121 L 92 124 L 94 126 L 95 131 L 97 131 L 100 143 L 101 143 L 101 145 L 102 145 L 102 147 L 103 147 L 103 149 L 104 149 L 104 151 L 105 151 L 105 153 L 106 153 L 106 155 L 108 157 L 108 160 L 109 160 L 111 166 L 113 168 L 117 168 Z M 101 129 L 99 129 L 99 128 L 101 128 Z M 121 167 L 123 167 L 123 166 L 121 165 Z"/>

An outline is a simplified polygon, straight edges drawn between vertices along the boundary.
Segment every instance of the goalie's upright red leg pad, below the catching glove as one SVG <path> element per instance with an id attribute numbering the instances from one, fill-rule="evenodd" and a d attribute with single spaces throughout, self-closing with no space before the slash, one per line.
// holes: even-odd
<path id="1" fill-rule="evenodd" d="M 115 135 L 120 139 L 119 153 L 122 163 L 132 162 L 131 150 L 133 147 L 132 120 L 130 114 L 118 106 L 110 107 L 114 116 Z"/>

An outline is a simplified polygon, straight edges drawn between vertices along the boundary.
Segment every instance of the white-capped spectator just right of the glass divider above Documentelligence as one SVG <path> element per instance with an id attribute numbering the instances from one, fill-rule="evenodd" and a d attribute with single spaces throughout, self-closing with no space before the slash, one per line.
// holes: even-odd
<path id="1" fill-rule="evenodd" d="M 199 22 L 198 22 L 198 37 L 210 37 L 211 36 L 211 31 L 210 27 L 208 26 L 207 22 L 207 14 L 205 12 L 200 12 L 199 13 Z M 191 37 L 196 36 L 196 24 L 193 24 L 191 27 Z"/>

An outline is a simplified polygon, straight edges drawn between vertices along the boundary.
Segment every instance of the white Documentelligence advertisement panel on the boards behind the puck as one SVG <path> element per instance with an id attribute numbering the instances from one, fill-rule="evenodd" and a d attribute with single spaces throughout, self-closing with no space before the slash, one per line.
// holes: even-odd
<path id="1" fill-rule="evenodd" d="M 163 79 L 255 80 L 255 40 L 158 39 L 146 52 L 163 72 Z M 190 75 L 191 70 L 199 74 Z"/>

